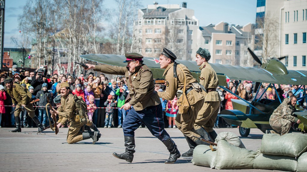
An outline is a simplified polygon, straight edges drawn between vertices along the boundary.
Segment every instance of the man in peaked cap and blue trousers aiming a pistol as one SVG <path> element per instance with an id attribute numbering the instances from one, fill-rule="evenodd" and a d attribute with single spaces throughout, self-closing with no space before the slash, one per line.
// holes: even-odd
<path id="1" fill-rule="evenodd" d="M 126 53 L 126 67 L 111 65 L 90 65 L 88 68 L 108 74 L 125 75 L 130 98 L 126 99 L 121 109 L 132 109 L 126 115 L 122 124 L 126 151 L 122 154 L 113 153 L 116 158 L 132 162 L 135 144 L 134 131 L 144 123 L 153 136 L 156 136 L 170 152 L 165 163 L 174 163 L 181 155 L 175 142 L 164 129 L 162 105 L 154 90 L 153 74 L 143 64 L 143 56 L 138 53 Z M 129 96 L 128 96 L 129 97 Z"/>

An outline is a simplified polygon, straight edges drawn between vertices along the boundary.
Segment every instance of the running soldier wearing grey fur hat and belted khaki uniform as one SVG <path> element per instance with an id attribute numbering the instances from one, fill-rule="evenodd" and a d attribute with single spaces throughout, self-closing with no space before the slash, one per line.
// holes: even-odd
<path id="1" fill-rule="evenodd" d="M 200 84 L 207 90 L 205 93 L 205 99 L 203 107 L 198 112 L 194 129 L 204 139 L 214 142 L 217 134 L 213 130 L 213 126 L 220 109 L 220 96 L 216 91 L 216 87 L 219 84 L 216 72 L 208 63 L 211 55 L 206 49 L 199 48 L 196 52 L 196 64 L 200 66 Z M 193 155 L 194 148 L 191 147 L 187 152 L 190 156 Z"/>

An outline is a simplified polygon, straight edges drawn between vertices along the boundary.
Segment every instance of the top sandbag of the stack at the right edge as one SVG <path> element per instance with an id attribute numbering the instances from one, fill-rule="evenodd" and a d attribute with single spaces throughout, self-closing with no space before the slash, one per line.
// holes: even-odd
<path id="1" fill-rule="evenodd" d="M 298 157 L 307 150 L 307 135 L 301 133 L 264 134 L 260 151 L 266 155 Z"/>

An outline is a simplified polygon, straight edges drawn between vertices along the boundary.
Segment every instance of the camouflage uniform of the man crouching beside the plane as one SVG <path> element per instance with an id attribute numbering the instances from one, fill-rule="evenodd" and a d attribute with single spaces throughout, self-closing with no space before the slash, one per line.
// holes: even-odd
<path id="1" fill-rule="evenodd" d="M 292 115 L 295 108 L 290 103 L 290 98 L 284 99 L 270 117 L 271 127 L 280 135 L 289 133 L 292 122 L 298 120 Z"/>

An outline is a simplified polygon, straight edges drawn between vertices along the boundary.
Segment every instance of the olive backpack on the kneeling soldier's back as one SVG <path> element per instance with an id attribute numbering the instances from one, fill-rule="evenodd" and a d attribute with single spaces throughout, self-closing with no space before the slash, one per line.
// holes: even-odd
<path id="1" fill-rule="evenodd" d="M 75 105 L 77 108 L 76 118 L 80 119 L 81 125 L 85 125 L 87 123 L 87 104 L 84 102 L 81 96 L 73 95 L 73 98 L 75 100 Z"/>

